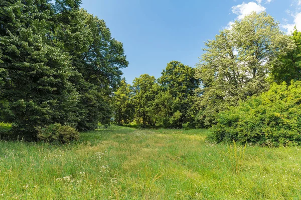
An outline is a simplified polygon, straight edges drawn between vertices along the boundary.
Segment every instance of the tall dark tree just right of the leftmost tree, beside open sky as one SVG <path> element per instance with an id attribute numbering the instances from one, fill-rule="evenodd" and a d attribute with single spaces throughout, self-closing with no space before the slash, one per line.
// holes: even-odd
<path id="1" fill-rule="evenodd" d="M 91 130 L 108 123 L 113 112 L 112 92 L 121 79 L 120 68 L 128 61 L 122 43 L 111 37 L 103 20 L 84 9 L 61 9 L 58 5 L 54 42 L 68 52 L 76 72 L 70 81 L 80 94 L 81 116 L 77 128 Z"/>

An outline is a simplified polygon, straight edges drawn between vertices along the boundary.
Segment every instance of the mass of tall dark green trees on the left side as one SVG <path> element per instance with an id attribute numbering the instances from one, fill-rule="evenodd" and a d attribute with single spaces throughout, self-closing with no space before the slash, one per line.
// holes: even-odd
<path id="1" fill-rule="evenodd" d="M 36 137 L 60 123 L 109 122 L 111 94 L 128 62 L 105 22 L 80 0 L 0 1 L 0 117 Z"/>

